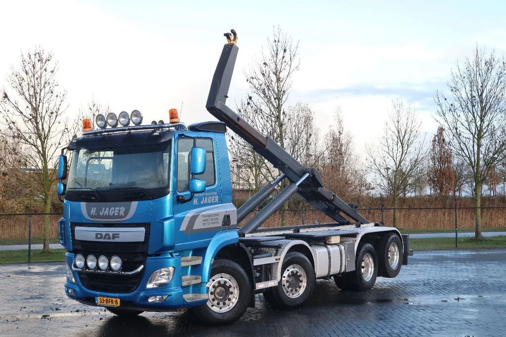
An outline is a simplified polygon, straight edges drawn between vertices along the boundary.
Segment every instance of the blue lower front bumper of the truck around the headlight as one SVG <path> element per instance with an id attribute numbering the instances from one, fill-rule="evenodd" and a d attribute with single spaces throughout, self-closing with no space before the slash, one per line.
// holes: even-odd
<path id="1" fill-rule="evenodd" d="M 65 262 L 69 268 L 74 263 L 74 254 L 67 252 Z M 169 284 L 158 288 L 146 288 L 150 275 L 164 267 L 174 267 L 174 276 Z M 72 271 L 75 282 L 68 279 L 65 282 L 65 293 L 71 299 L 87 305 L 97 305 L 97 297 L 112 297 L 121 300 L 121 308 L 143 310 L 143 311 L 171 311 L 181 308 L 194 307 L 204 304 L 206 300 L 188 302 L 184 299 L 185 294 L 207 294 L 205 283 L 182 286 L 181 282 L 181 260 L 179 257 L 164 255 L 159 257 L 148 257 L 145 264 L 145 272 L 141 283 L 135 291 L 129 293 L 114 293 L 93 291 L 84 287 L 79 281 L 78 272 Z M 128 277 L 128 276 L 125 276 Z M 163 302 L 148 302 L 152 296 L 164 296 Z"/>

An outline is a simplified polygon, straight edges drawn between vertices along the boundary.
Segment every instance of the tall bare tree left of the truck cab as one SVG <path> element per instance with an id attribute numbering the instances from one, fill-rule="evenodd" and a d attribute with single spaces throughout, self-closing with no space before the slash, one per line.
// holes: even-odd
<path id="1" fill-rule="evenodd" d="M 51 188 L 56 181 L 55 155 L 68 140 L 64 111 L 66 92 L 55 75 L 58 63 L 53 54 L 37 47 L 21 55 L 19 68 L 11 67 L 9 89 L 2 91 L 0 117 L 3 135 L 22 147 L 22 161 L 35 172 L 43 195 L 44 213 L 51 210 Z M 44 221 L 44 251 L 49 251 L 50 219 Z"/>

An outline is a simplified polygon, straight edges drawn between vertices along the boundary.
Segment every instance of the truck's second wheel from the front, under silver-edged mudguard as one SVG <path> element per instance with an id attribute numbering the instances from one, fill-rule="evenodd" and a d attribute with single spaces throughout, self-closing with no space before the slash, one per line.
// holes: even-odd
<path id="1" fill-rule="evenodd" d="M 313 265 L 300 252 L 286 254 L 281 267 L 281 279 L 277 286 L 264 292 L 267 302 L 281 309 L 303 304 L 314 290 L 316 282 Z"/>

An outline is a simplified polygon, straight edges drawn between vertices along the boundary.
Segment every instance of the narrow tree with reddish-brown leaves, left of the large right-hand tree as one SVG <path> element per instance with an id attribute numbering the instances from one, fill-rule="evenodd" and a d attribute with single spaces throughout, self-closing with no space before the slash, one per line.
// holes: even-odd
<path id="1" fill-rule="evenodd" d="M 428 177 L 437 195 L 448 195 L 453 190 L 455 174 L 452 168 L 453 154 L 445 138 L 444 128 L 439 127 L 432 139 Z"/>

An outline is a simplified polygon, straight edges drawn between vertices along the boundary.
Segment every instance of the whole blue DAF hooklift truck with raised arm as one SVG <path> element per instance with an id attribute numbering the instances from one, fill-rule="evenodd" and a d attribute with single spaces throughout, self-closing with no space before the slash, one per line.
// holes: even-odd
<path id="1" fill-rule="evenodd" d="M 175 109 L 167 123 L 143 124 L 138 110 L 98 115 L 96 130 L 83 120 L 82 136 L 62 150 L 59 239 L 69 298 L 123 316 L 191 308 L 205 324 L 226 324 L 255 305 L 256 293 L 289 309 L 318 278 L 364 291 L 407 264 L 407 235 L 367 221 L 324 188 L 317 170 L 226 105 L 238 47 L 234 30 L 225 36 L 206 103 L 219 121 L 186 126 Z M 227 128 L 281 172 L 239 208 Z M 259 228 L 296 193 L 332 222 Z"/>

